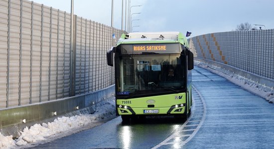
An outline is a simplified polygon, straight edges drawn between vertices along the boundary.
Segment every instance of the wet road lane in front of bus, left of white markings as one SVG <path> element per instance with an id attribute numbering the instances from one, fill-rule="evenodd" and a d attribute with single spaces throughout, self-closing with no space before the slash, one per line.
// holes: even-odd
<path id="1" fill-rule="evenodd" d="M 170 136 L 174 128 L 183 124 L 176 121 L 168 122 L 168 119 L 171 120 L 171 118 L 149 119 L 141 123 L 123 124 L 121 117 L 117 117 L 90 130 L 33 149 L 149 149 Z"/>

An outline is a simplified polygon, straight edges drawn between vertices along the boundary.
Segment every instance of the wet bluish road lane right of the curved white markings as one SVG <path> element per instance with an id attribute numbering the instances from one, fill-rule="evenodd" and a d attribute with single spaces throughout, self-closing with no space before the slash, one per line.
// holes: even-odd
<path id="1" fill-rule="evenodd" d="M 206 119 L 184 148 L 274 149 L 274 104 L 197 67 L 193 85 L 205 101 Z"/>

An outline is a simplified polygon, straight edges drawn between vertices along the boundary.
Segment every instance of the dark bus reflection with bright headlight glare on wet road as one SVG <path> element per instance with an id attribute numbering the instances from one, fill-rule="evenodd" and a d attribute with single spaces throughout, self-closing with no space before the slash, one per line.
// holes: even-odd
<path id="1" fill-rule="evenodd" d="M 172 116 L 134 119 L 129 123 L 121 121 L 120 125 L 117 125 L 118 146 L 122 149 L 153 148 L 174 133 L 184 122 L 185 119 L 176 119 Z"/>

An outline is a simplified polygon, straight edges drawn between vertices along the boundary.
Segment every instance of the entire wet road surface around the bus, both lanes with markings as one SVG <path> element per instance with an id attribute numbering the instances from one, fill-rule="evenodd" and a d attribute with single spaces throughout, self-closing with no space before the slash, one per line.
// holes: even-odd
<path id="1" fill-rule="evenodd" d="M 35 148 L 274 149 L 274 104 L 199 67 L 192 81 L 194 106 L 187 121 L 152 118 L 129 125 L 117 117 Z"/>

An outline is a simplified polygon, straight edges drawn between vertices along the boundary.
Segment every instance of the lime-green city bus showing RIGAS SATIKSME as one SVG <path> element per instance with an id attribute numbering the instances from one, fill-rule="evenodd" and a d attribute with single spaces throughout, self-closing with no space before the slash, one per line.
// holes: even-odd
<path id="1" fill-rule="evenodd" d="M 147 115 L 189 115 L 193 53 L 182 33 L 123 34 L 107 52 L 107 61 L 115 65 L 116 113 L 123 121 Z"/>

